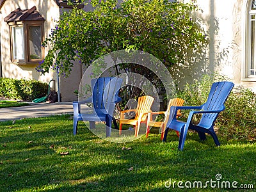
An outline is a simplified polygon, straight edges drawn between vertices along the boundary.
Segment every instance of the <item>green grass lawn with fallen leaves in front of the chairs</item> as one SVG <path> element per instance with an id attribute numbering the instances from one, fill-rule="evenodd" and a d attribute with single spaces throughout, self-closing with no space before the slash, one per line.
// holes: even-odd
<path id="1" fill-rule="evenodd" d="M 189 183 L 191 191 L 230 191 L 228 182 L 256 188 L 256 144 L 249 141 L 219 137 L 215 147 L 189 132 L 180 152 L 174 131 L 166 143 L 152 133 L 111 143 L 83 122 L 78 131 L 72 135 L 68 115 L 0 122 L 0 191 L 188 191 Z M 196 188 L 200 182 L 207 188 Z"/>

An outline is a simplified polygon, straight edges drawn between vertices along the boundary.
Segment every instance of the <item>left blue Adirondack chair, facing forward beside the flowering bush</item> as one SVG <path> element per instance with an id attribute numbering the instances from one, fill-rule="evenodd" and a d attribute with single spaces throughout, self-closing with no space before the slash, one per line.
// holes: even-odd
<path id="1" fill-rule="evenodd" d="M 95 128 L 95 122 L 106 122 L 106 136 L 111 134 L 111 123 L 118 129 L 113 117 L 115 104 L 122 99 L 118 97 L 122 85 L 122 79 L 117 77 L 100 77 L 92 79 L 92 97 L 79 102 L 73 102 L 74 120 L 73 134 L 77 133 L 78 121 L 89 121 L 90 129 Z M 81 104 L 93 103 L 93 113 L 81 113 Z"/>

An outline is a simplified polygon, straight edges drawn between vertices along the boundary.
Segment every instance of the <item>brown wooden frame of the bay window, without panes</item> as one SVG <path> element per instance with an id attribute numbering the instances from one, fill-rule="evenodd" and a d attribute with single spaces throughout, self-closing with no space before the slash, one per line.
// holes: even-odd
<path id="1" fill-rule="evenodd" d="M 17 65 L 26 65 L 26 64 L 38 64 L 38 62 L 44 59 L 44 47 L 41 47 L 41 58 L 40 59 L 31 59 L 30 58 L 30 50 L 29 50 L 29 26 L 40 26 L 41 29 L 41 45 L 44 42 L 44 21 L 42 20 L 26 20 L 19 22 L 10 22 L 8 23 L 10 27 L 10 45 L 11 45 L 11 63 L 15 63 Z M 13 58 L 13 36 L 12 36 L 12 27 L 23 26 L 23 44 L 24 44 L 24 60 L 15 60 Z"/>

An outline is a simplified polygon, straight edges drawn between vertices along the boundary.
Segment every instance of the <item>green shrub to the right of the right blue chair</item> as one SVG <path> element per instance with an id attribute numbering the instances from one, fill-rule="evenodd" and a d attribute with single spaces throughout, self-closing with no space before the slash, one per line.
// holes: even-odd
<path id="1" fill-rule="evenodd" d="M 216 120 L 218 132 L 228 139 L 256 140 L 256 96 L 246 88 L 235 88 Z"/>

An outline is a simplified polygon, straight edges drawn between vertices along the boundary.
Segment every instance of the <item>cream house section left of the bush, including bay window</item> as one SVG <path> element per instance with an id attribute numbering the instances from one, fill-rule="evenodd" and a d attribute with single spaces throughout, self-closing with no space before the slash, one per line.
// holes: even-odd
<path id="1" fill-rule="evenodd" d="M 84 4 L 78 4 L 84 8 Z M 0 0 L 0 77 L 15 79 L 35 79 L 51 84 L 57 90 L 57 74 L 49 72 L 41 76 L 36 66 L 47 54 L 47 47 L 41 47 L 42 42 L 54 28 L 54 20 L 58 20 L 61 13 L 70 10 L 65 1 L 19 1 Z M 82 77 L 82 67 L 76 65 L 70 77 L 60 76 L 61 100 L 76 100 L 74 94 L 78 90 Z"/>

